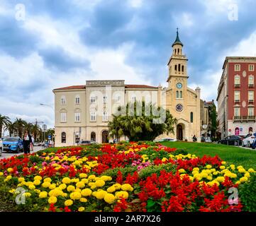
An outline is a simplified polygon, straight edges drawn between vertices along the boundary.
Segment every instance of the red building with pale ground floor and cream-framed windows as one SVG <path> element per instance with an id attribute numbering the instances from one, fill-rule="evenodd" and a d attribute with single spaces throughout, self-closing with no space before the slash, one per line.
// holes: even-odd
<path id="1" fill-rule="evenodd" d="M 226 57 L 218 85 L 221 137 L 256 131 L 256 57 Z"/>

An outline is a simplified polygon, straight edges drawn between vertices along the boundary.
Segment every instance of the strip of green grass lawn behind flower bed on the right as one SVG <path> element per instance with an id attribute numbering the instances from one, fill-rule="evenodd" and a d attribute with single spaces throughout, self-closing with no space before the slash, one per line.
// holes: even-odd
<path id="1" fill-rule="evenodd" d="M 162 142 L 162 144 L 172 148 L 187 150 L 189 153 L 199 157 L 218 155 L 228 164 L 243 165 L 245 169 L 250 167 L 256 169 L 256 150 L 215 143 Z"/>

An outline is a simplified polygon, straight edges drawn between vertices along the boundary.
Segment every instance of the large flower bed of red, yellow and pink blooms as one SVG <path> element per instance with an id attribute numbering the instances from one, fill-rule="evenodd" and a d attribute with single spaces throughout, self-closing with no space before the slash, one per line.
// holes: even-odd
<path id="1" fill-rule="evenodd" d="M 241 211 L 228 189 L 254 172 L 155 143 L 91 145 L 1 160 L 0 188 L 23 211 Z"/>

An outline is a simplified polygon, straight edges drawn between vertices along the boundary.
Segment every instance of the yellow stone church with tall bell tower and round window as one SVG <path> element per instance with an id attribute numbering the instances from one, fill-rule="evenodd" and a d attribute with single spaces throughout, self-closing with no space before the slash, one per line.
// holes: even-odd
<path id="1" fill-rule="evenodd" d="M 202 115 L 200 100 L 200 88 L 193 90 L 187 86 L 187 57 L 183 52 L 183 44 L 179 40 L 177 29 L 176 40 L 172 44 L 172 56 L 168 61 L 167 78 L 168 87 L 166 89 L 166 107 L 177 119 L 175 138 L 179 141 L 192 141 L 195 135 L 197 140 L 201 138 L 201 118 Z"/>

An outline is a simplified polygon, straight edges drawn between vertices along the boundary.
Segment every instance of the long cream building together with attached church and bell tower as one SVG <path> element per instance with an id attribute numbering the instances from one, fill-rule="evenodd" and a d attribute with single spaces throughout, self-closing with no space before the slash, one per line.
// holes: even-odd
<path id="1" fill-rule="evenodd" d="M 200 141 L 200 88 L 187 86 L 187 57 L 182 51 L 179 33 L 172 44 L 168 61 L 167 88 L 150 85 L 127 85 L 123 80 L 86 81 L 53 90 L 55 94 L 55 145 L 74 145 L 80 140 L 108 142 L 108 121 L 115 109 L 128 102 L 152 102 L 169 109 L 177 118 L 174 134 L 170 137 Z M 161 137 L 167 136 L 163 134 Z M 121 138 L 126 139 L 126 138 Z"/>

